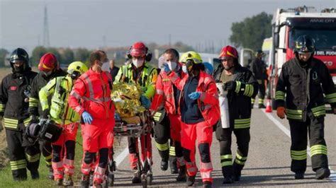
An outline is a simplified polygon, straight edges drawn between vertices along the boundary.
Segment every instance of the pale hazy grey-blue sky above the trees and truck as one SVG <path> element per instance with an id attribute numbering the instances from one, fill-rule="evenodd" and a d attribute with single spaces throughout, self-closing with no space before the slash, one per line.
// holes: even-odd
<path id="1" fill-rule="evenodd" d="M 196 46 L 228 42 L 230 26 L 262 11 L 296 6 L 336 7 L 336 0 L 0 0 L 0 47 L 43 43 L 43 14 L 47 6 L 50 46 L 130 46 L 133 42 Z"/>

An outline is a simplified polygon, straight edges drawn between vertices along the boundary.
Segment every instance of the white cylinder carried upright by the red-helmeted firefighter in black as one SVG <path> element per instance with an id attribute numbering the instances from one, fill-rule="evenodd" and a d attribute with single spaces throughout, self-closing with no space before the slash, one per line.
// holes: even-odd
<path id="1" fill-rule="evenodd" d="M 219 90 L 220 122 L 222 128 L 227 129 L 230 128 L 228 92 L 224 90 L 224 83 L 216 83 L 216 86 Z"/>

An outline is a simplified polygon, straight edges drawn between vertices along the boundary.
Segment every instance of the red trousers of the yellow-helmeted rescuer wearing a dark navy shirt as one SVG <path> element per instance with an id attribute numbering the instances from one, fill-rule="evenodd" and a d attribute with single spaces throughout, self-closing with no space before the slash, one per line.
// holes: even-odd
<path id="1" fill-rule="evenodd" d="M 201 177 L 203 182 L 213 181 L 211 172 L 213 165 L 211 163 L 211 143 L 213 141 L 213 127 L 206 122 L 196 124 L 185 124 L 181 122 L 181 145 L 187 152 L 184 152 L 186 160 L 186 169 L 189 176 L 197 173 L 195 162 L 195 142 L 197 141 L 198 151 L 201 155 Z M 202 161 L 204 159 L 204 161 Z"/>

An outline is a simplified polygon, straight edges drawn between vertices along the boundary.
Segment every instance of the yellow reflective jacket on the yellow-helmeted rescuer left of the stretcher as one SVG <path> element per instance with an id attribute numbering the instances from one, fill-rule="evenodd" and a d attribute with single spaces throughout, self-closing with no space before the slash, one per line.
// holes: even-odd
<path id="1" fill-rule="evenodd" d="M 60 76 L 53 78 L 38 93 L 42 110 L 50 109 L 50 116 L 57 124 L 69 124 L 79 121 L 79 114 L 68 105 L 68 97 L 72 90 L 72 78 Z M 47 102 L 52 95 L 51 105 Z"/>

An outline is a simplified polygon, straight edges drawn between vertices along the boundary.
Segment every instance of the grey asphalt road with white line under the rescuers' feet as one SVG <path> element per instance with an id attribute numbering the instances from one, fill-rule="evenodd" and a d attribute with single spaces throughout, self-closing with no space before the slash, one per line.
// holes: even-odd
<path id="1" fill-rule="evenodd" d="M 220 153 L 218 141 L 213 134 L 211 158 L 213 160 L 213 187 L 336 187 L 336 115 L 327 114 L 325 117 L 325 140 L 327 141 L 328 159 L 332 175 L 326 180 L 315 180 L 315 172 L 311 170 L 308 155 L 308 168 L 304 180 L 294 180 L 290 170 L 290 137 L 289 124 L 286 119 L 276 117 L 276 113 L 264 113 L 264 110 L 252 110 L 250 151 L 242 171 L 240 182 L 222 184 L 223 176 L 220 168 Z M 235 153 L 235 136 L 233 153 Z M 115 187 L 140 187 L 141 184 L 131 184 L 133 172 L 130 171 L 127 152 L 127 139 L 121 139 L 121 149 L 116 151 L 118 171 L 116 172 Z M 153 146 L 155 146 L 153 144 Z M 157 149 L 153 148 L 154 180 L 150 187 L 184 187 L 177 183 L 170 170 L 159 169 L 160 158 Z M 125 157 L 125 158 L 124 158 Z M 198 153 L 196 161 L 199 167 Z M 201 177 L 196 177 L 195 186 L 202 186 Z"/>

